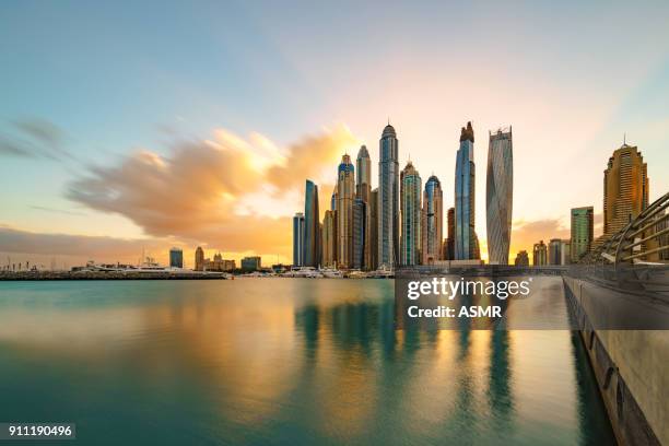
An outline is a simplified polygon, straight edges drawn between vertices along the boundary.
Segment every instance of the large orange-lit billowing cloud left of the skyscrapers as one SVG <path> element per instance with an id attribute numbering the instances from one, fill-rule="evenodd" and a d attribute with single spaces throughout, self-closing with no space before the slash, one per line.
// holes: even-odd
<path id="1" fill-rule="evenodd" d="M 354 141 L 340 126 L 281 151 L 258 133 L 245 140 L 216 130 L 212 140 L 175 142 L 167 156 L 141 150 L 117 165 L 93 166 L 69 184 L 66 196 L 127 216 L 151 236 L 285 256 L 291 250 L 290 215 L 304 204 L 286 203 L 282 213 L 268 215 L 262 200 L 271 208 L 272 200 L 302 190 L 306 177 L 326 166 L 333 169 L 332 160 Z M 258 195 L 258 209 L 247 206 L 240 212 L 245 199 Z"/>

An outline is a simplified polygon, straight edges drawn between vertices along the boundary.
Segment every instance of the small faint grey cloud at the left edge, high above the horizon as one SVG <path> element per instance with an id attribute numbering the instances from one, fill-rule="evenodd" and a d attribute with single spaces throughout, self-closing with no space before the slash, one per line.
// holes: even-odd
<path id="1" fill-rule="evenodd" d="M 71 156 L 66 141 L 64 132 L 48 120 L 19 120 L 0 131 L 0 155 L 62 160 Z"/>

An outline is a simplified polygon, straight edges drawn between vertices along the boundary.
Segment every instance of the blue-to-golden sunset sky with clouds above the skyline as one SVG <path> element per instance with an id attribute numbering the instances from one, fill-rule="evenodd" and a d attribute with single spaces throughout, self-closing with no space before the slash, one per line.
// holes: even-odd
<path id="1" fill-rule="evenodd" d="M 141 4 L 138 4 L 141 3 Z M 0 5 L 0 265 L 167 261 L 202 246 L 292 260 L 304 181 L 389 120 L 399 162 L 454 202 L 473 122 L 485 247 L 488 133 L 512 126 L 512 253 L 568 237 L 613 150 L 669 190 L 669 3 L 129 2 Z"/>

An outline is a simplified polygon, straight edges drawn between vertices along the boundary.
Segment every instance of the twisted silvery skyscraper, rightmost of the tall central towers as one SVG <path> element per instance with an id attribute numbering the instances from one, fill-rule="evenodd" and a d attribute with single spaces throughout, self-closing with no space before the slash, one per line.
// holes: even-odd
<path id="1" fill-rule="evenodd" d="M 490 263 L 508 265 L 514 195 L 512 129 L 490 133 L 485 179 L 485 216 Z"/>

